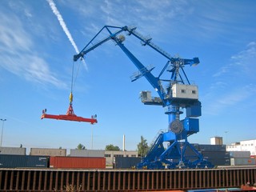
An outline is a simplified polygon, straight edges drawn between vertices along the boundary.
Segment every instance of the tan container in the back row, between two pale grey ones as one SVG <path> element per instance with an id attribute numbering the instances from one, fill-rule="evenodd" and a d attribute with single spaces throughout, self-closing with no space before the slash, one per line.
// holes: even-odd
<path id="1" fill-rule="evenodd" d="M 30 148 L 30 155 L 66 156 L 66 149 Z"/>

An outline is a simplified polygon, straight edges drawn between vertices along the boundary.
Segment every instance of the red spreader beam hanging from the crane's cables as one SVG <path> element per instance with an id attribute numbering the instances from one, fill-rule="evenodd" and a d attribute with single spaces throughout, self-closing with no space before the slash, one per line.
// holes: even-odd
<path id="1" fill-rule="evenodd" d="M 57 120 L 66 120 L 66 121 L 74 121 L 74 122 L 90 122 L 90 124 L 94 124 L 98 122 L 96 119 L 96 115 L 92 116 L 91 118 L 82 118 L 75 115 L 72 104 L 70 104 L 70 107 L 67 110 L 66 114 L 59 114 L 59 115 L 46 114 L 46 110 L 42 110 L 41 119 L 43 118 L 53 118 Z"/>

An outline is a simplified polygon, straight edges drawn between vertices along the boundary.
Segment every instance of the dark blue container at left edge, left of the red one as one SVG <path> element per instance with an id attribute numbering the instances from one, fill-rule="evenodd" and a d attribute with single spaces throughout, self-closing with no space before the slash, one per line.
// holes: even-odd
<path id="1" fill-rule="evenodd" d="M 0 168 L 46 168 L 49 157 L 18 154 L 0 154 Z"/>

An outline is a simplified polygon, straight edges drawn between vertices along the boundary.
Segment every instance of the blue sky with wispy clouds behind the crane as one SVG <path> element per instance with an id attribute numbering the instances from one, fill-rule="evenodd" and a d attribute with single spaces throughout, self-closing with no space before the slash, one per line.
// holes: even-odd
<path id="1" fill-rule="evenodd" d="M 94 149 L 122 148 L 125 134 L 126 150 L 136 150 L 141 135 L 152 142 L 167 128 L 161 106 L 140 102 L 140 91 L 155 92 L 145 78 L 130 82 L 137 69 L 114 42 L 74 63 L 74 113 L 97 114 L 98 124 L 40 119 L 45 108 L 48 114 L 66 114 L 75 46 L 82 50 L 105 25 L 137 26 L 171 55 L 200 59 L 198 66 L 185 68 L 202 102 L 200 132 L 190 142 L 256 138 L 254 0 L 54 1 L 62 25 L 50 3 L 0 2 L 0 118 L 7 119 L 2 146 L 74 149 L 82 143 L 91 149 L 93 130 Z M 155 75 L 167 62 L 136 38 L 126 37 L 125 45 L 145 66 L 156 66 Z"/>

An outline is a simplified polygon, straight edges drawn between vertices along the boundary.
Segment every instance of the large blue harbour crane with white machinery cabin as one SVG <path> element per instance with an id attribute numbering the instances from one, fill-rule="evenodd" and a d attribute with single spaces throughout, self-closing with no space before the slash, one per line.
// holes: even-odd
<path id="1" fill-rule="evenodd" d="M 105 30 L 109 35 L 101 41 L 95 42 L 99 34 L 102 34 Z M 115 31 L 112 32 L 112 30 Z M 127 36 L 133 35 L 142 42 L 142 46 L 150 46 L 167 59 L 165 66 L 158 76 L 155 77 L 151 73 L 154 70 L 153 66 L 144 66 L 124 46 L 126 39 L 124 34 Z M 136 27 L 104 26 L 79 54 L 74 55 L 74 61 L 84 58 L 91 50 L 109 40 L 114 41 L 138 68 L 138 72 L 131 77 L 131 81 L 134 82 L 138 78 L 145 77 L 158 93 L 158 97 L 152 97 L 150 91 L 142 91 L 140 93 L 142 102 L 145 105 L 162 106 L 165 114 L 168 116 L 168 130 L 158 133 L 154 144 L 152 144 L 150 150 L 136 168 L 153 170 L 214 167 L 208 160 L 203 158 L 202 154 L 187 139 L 190 135 L 198 133 L 198 117 L 202 113 L 201 102 L 198 100 L 198 86 L 190 84 L 183 68 L 185 66 L 198 65 L 199 59 L 171 57 L 165 50 L 151 42 L 152 38 L 146 38 L 139 34 L 136 31 Z M 162 74 L 167 72 L 170 73 L 168 75 L 169 78 L 162 78 Z M 180 114 L 183 113 L 184 109 L 186 109 L 186 118 L 181 120 Z"/>

